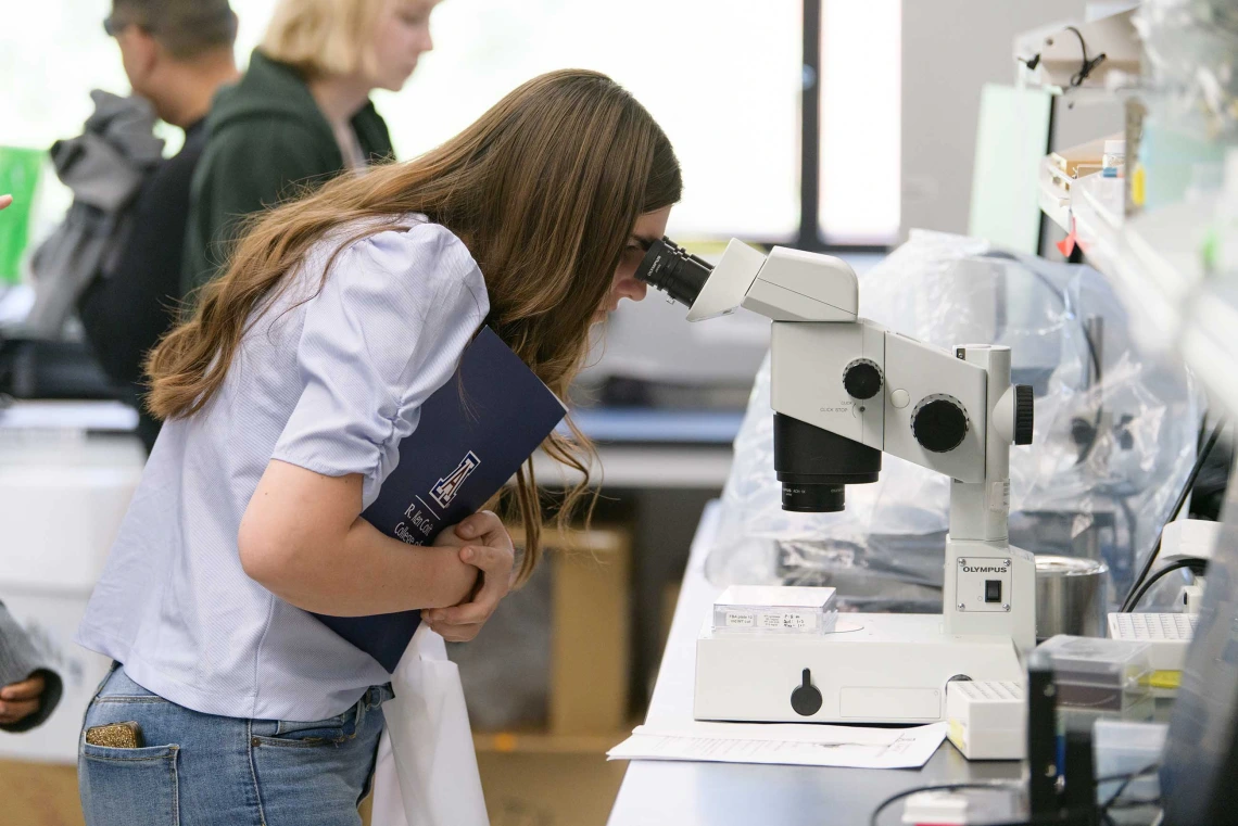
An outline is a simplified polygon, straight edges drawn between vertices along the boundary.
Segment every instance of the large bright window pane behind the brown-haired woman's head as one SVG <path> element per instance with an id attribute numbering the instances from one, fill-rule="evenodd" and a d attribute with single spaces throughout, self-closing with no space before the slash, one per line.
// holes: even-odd
<path id="1" fill-rule="evenodd" d="M 379 106 L 410 157 L 536 74 L 598 69 L 675 145 L 685 193 L 671 231 L 790 237 L 800 219 L 800 15 L 785 0 L 446 0 L 436 51 Z"/>

